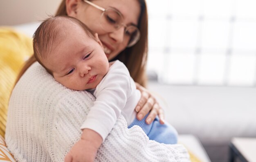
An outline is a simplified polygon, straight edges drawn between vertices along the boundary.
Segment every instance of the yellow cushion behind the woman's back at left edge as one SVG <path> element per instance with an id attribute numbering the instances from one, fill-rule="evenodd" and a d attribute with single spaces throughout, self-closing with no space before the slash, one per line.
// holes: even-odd
<path id="1" fill-rule="evenodd" d="M 0 27 L 0 135 L 4 136 L 7 106 L 16 77 L 33 54 L 32 39 L 8 27 Z"/>

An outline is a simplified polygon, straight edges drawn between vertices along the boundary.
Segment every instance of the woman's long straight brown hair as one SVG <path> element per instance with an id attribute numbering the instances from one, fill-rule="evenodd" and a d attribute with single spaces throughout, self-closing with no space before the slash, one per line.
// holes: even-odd
<path id="1" fill-rule="evenodd" d="M 145 0 L 138 1 L 141 7 L 141 13 L 138 22 L 138 29 L 141 32 L 141 37 L 134 46 L 124 49 L 124 51 L 119 53 L 119 55 L 117 55 L 117 57 L 113 60 L 120 60 L 123 62 L 128 68 L 132 79 L 135 82 L 141 84 L 143 87 L 146 87 L 146 62 L 148 54 L 148 11 Z M 65 0 L 61 2 L 56 12 L 56 16 L 67 15 L 65 2 Z M 18 82 L 23 73 L 25 73 L 25 71 L 35 61 L 36 59 L 34 55 L 32 55 L 20 71 L 16 82 Z"/>

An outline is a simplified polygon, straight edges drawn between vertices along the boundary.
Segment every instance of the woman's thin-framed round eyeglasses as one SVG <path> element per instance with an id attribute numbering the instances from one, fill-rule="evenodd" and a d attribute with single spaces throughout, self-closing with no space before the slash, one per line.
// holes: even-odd
<path id="1" fill-rule="evenodd" d="M 140 38 L 139 29 L 134 25 L 127 26 L 126 24 L 124 24 L 123 16 L 119 11 L 112 8 L 104 9 L 88 0 L 83 0 L 83 1 L 103 11 L 100 18 L 100 24 L 103 30 L 107 32 L 113 32 L 118 30 L 120 27 L 124 26 L 125 28 L 124 34 L 126 37 L 130 38 L 130 41 L 128 42 L 127 47 L 132 47 L 134 44 L 136 44 L 139 41 L 139 38 Z"/>

